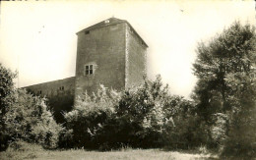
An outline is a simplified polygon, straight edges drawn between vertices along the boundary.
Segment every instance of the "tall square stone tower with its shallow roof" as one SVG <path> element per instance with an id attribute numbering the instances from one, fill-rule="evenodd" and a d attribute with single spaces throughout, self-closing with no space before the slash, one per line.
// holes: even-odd
<path id="1" fill-rule="evenodd" d="M 110 18 L 77 35 L 75 102 L 99 84 L 121 90 L 143 81 L 148 45 L 127 21 Z"/>

